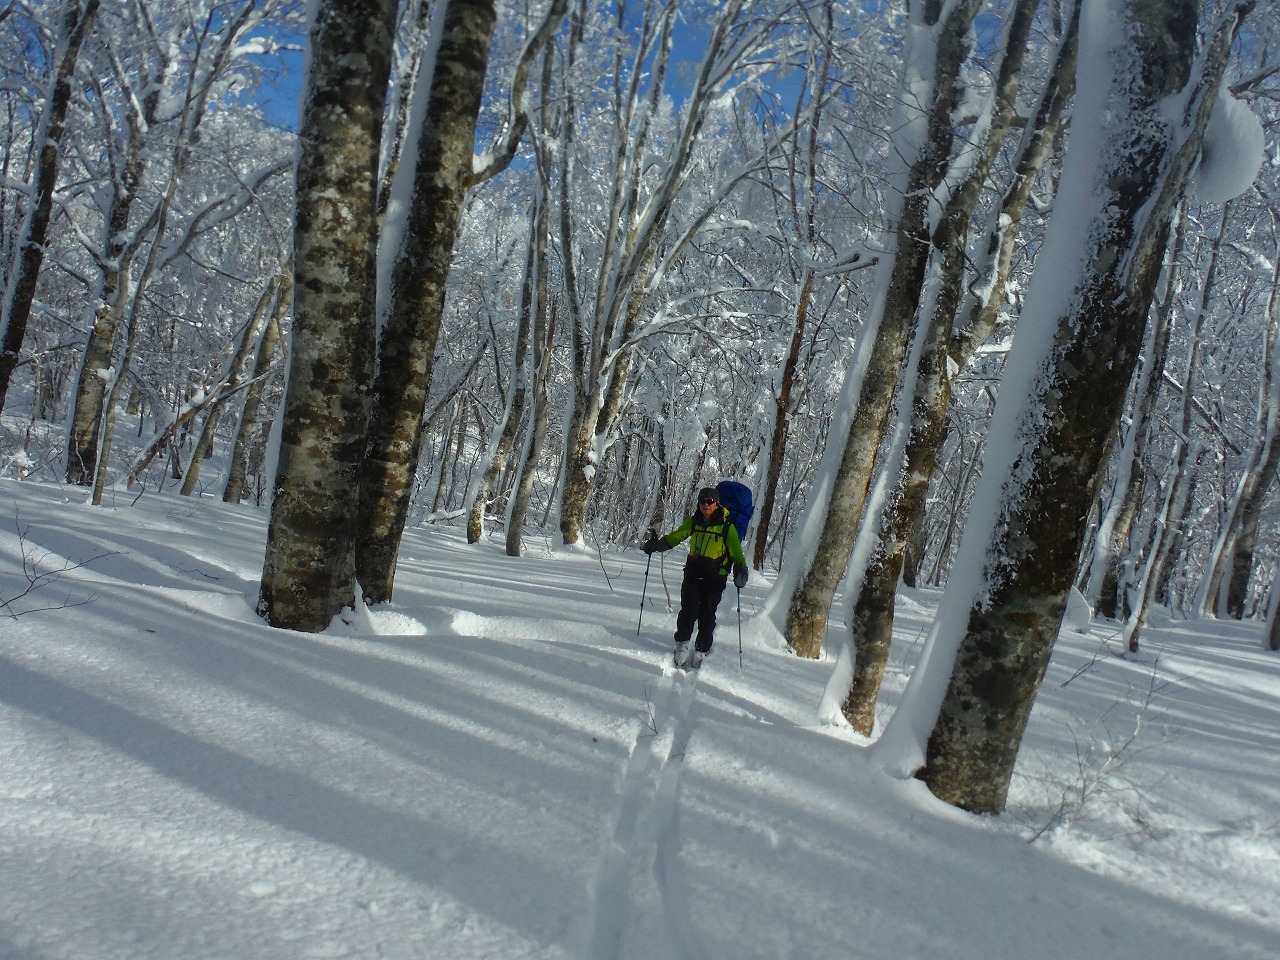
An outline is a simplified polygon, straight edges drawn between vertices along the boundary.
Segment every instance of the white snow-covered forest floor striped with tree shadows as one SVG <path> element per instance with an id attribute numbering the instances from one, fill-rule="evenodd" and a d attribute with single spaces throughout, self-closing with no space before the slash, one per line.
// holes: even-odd
<path id="1" fill-rule="evenodd" d="M 657 558 L 636 634 L 639 553 L 413 530 L 394 605 L 310 636 L 253 614 L 261 511 L 0 506 L 4 960 L 1280 955 L 1254 623 L 1135 659 L 1064 632 L 978 818 L 818 721 L 833 660 L 759 639 L 758 582 L 742 666 L 730 590 L 686 675 Z M 936 599 L 902 599 L 884 712 Z"/>

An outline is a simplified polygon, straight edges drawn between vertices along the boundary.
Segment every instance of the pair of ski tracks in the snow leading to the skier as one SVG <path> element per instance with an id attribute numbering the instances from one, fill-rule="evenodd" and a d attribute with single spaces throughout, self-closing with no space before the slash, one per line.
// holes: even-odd
<path id="1" fill-rule="evenodd" d="M 694 932 L 689 892 L 680 868 L 676 810 L 685 750 L 694 735 L 698 671 L 663 668 L 657 690 L 648 698 L 645 718 L 636 732 L 618 787 L 618 813 L 591 897 L 584 960 L 626 956 L 632 905 L 657 892 L 660 902 L 660 957 L 703 957 L 705 948 Z M 649 874 L 655 890 L 634 891 Z M 639 913 L 639 911 L 636 911 Z M 640 931 L 646 947 L 652 931 Z M 648 955 L 648 954 L 646 954 Z"/>

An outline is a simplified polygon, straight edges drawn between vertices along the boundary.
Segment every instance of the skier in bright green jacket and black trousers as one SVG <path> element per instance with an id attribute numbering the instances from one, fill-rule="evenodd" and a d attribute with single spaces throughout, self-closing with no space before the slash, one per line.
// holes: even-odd
<path id="1" fill-rule="evenodd" d="M 733 567 L 733 586 L 741 590 L 746 586 L 746 557 L 737 530 L 730 522 L 728 511 L 721 506 L 714 486 L 704 486 L 698 492 L 698 509 L 666 536 L 658 536 L 653 530 L 644 541 L 648 554 L 669 550 L 676 544 L 689 540 L 689 559 L 685 562 L 685 579 L 680 585 L 680 613 L 676 616 L 676 655 L 677 667 L 696 669 L 703 657 L 710 653 L 716 631 L 716 608 L 719 605 L 724 584 L 728 580 L 730 563 Z M 689 639 L 698 625 L 698 639 L 694 649 L 689 649 Z"/>

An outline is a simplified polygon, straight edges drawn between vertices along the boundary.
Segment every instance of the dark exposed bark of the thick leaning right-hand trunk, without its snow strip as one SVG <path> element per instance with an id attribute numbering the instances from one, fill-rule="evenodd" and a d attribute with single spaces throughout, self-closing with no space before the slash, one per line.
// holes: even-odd
<path id="1" fill-rule="evenodd" d="M 1093 196 L 1060 197 L 1093 205 L 1084 259 L 1068 302 L 1036 305 L 1052 334 L 1046 374 L 1032 396 L 1001 396 L 1018 404 L 1016 480 L 984 479 L 1001 484 L 998 522 L 982 544 L 992 562 L 980 596 L 968 599 L 919 773 L 934 795 L 975 813 L 1005 806 L 1074 582 L 1100 465 L 1138 360 L 1169 224 L 1239 26 L 1229 19 L 1215 36 L 1179 129 L 1162 102 L 1192 76 L 1198 13 L 1194 0 L 1128 0 L 1116 14 L 1125 33 L 1115 41 L 1106 110 L 1091 118 L 1103 124 L 1098 142 L 1106 146 L 1082 170 Z"/>

